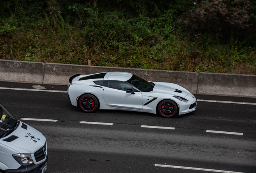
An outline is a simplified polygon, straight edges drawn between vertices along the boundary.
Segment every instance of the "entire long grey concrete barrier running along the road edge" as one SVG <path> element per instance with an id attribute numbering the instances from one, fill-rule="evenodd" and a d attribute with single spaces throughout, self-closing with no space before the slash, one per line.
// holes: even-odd
<path id="1" fill-rule="evenodd" d="M 108 71 L 130 72 L 148 81 L 179 84 L 193 94 L 256 97 L 256 75 L 0 60 L 0 81 L 68 85 L 74 74 Z"/>

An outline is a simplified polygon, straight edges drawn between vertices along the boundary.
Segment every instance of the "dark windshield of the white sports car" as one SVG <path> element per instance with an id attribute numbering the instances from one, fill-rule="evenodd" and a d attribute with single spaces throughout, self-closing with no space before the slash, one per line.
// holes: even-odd
<path id="1" fill-rule="evenodd" d="M 137 89 L 143 92 L 153 91 L 153 88 L 154 88 L 153 84 L 149 83 L 147 80 L 144 80 L 134 74 L 129 80 L 127 80 L 127 82 L 132 84 L 134 87 L 136 87 Z"/>

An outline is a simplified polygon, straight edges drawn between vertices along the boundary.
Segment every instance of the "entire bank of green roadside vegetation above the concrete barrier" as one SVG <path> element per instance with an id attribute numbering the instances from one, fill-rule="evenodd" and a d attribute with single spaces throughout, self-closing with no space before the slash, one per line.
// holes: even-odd
<path id="1" fill-rule="evenodd" d="M 1 0 L 0 59 L 256 74 L 254 0 Z"/>

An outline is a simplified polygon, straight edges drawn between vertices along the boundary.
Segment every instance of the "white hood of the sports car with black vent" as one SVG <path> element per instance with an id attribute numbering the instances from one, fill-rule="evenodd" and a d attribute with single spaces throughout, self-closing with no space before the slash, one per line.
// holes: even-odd
<path id="1" fill-rule="evenodd" d="M 186 97 L 186 95 L 188 95 L 189 93 L 188 90 L 186 90 L 184 87 L 178 84 L 167 83 L 167 82 L 153 82 L 153 83 L 155 84 L 155 87 L 153 88 L 153 93 L 172 94 L 172 95 L 178 95 L 180 97 Z M 182 91 L 182 93 L 177 92 L 176 89 Z"/>

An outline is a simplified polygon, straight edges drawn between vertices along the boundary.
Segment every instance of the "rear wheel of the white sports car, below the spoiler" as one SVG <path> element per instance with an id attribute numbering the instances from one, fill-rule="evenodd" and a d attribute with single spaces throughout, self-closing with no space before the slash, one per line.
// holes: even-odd
<path id="1" fill-rule="evenodd" d="M 78 107 L 84 112 L 93 113 L 97 111 L 99 102 L 93 95 L 85 94 L 78 100 Z"/>

